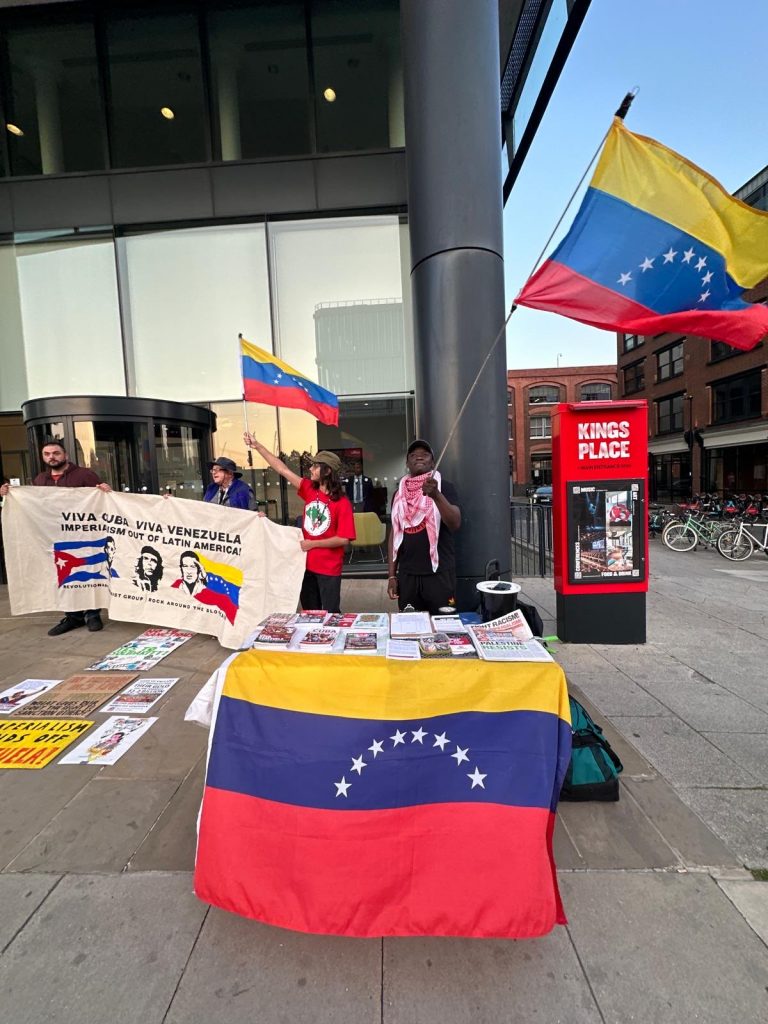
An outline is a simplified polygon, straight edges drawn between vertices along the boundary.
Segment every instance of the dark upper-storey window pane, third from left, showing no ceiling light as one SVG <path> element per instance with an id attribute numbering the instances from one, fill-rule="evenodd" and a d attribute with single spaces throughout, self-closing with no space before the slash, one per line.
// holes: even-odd
<path id="1" fill-rule="evenodd" d="M 209 30 L 222 160 L 311 152 L 304 5 L 214 11 Z"/>

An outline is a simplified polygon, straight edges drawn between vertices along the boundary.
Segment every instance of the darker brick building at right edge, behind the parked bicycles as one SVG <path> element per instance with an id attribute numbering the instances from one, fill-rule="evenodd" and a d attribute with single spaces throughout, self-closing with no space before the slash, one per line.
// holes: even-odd
<path id="1" fill-rule="evenodd" d="M 768 167 L 734 194 L 768 209 Z M 746 292 L 768 302 L 768 279 Z M 768 492 L 766 342 L 741 352 L 679 334 L 620 334 L 618 393 L 648 401 L 649 493 L 669 502 L 691 492 Z"/>

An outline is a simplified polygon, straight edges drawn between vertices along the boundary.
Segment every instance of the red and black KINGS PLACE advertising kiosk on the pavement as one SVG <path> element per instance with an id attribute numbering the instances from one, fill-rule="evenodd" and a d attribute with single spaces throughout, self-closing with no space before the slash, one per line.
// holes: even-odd
<path id="1" fill-rule="evenodd" d="M 562 402 L 552 418 L 557 635 L 645 643 L 645 401 Z"/>

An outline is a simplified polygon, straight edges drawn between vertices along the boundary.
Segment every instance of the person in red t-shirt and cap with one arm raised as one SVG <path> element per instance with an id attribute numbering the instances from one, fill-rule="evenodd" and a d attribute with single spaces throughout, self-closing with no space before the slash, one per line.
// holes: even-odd
<path id="1" fill-rule="evenodd" d="M 307 480 L 294 473 L 252 433 L 246 431 L 243 436 L 248 447 L 256 449 L 264 462 L 292 483 L 304 500 L 301 550 L 307 555 L 299 598 L 301 607 L 341 611 L 344 551 L 355 537 L 352 505 L 339 479 L 341 460 L 333 452 L 318 452 L 312 459 Z"/>

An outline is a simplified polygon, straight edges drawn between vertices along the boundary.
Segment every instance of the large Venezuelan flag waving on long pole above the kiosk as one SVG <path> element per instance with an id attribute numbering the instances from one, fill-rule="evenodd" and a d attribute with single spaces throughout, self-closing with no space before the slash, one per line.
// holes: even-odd
<path id="1" fill-rule="evenodd" d="M 515 300 L 606 330 L 754 348 L 768 308 L 768 213 L 615 118 L 573 225 Z"/>

